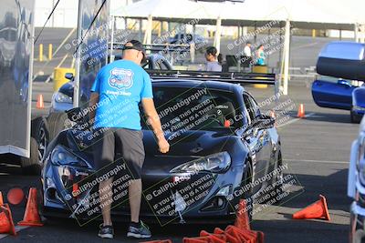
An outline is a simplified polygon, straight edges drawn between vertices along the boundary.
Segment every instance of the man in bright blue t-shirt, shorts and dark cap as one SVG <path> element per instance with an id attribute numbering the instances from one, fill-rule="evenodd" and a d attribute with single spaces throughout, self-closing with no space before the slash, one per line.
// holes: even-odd
<path id="1" fill-rule="evenodd" d="M 167 153 L 170 147 L 163 136 L 160 118 L 153 103 L 150 76 L 140 66 L 145 56 L 139 41 L 131 40 L 126 43 L 123 59 L 99 70 L 91 87 L 89 104 L 90 120 L 94 120 L 95 134 L 99 135 L 93 149 L 97 170 L 114 165 L 117 149 L 121 150 L 130 169 L 130 227 L 127 236 L 133 238 L 151 238 L 151 231 L 140 221 L 141 167 L 144 161 L 140 103 L 157 138 L 160 151 Z M 99 230 L 101 238 L 113 238 L 114 235 L 110 218 L 112 182 L 113 177 L 109 177 L 99 185 L 103 217 Z"/>

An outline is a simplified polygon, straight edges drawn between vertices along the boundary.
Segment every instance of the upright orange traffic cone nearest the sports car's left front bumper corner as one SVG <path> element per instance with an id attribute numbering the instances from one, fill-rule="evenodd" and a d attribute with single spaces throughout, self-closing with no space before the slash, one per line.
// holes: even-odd
<path id="1" fill-rule="evenodd" d="M 38 213 L 38 206 L 36 203 L 36 188 L 30 187 L 29 196 L 26 202 L 26 213 L 23 221 L 17 223 L 19 226 L 43 226 Z"/>

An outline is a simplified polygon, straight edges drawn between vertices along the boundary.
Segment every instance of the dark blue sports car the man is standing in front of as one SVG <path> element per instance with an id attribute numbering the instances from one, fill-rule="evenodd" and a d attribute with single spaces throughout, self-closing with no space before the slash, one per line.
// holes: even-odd
<path id="1" fill-rule="evenodd" d="M 251 212 L 259 198 L 254 196 L 270 185 L 275 185 L 271 190 L 276 193 L 282 189 L 283 170 L 278 168 L 283 160 L 275 119 L 261 113 L 243 86 L 189 78 L 156 78 L 152 86 L 171 150 L 160 153 L 148 123 L 143 122 L 141 218 L 161 225 L 227 222 L 235 218 L 240 199 L 247 200 Z M 46 218 L 85 222 L 99 217 L 103 207 L 97 186 L 101 174 L 96 173 L 92 157 L 95 139 L 92 130 L 83 126 L 87 120 L 83 114 L 75 108 L 68 112 L 69 121 L 60 116 L 73 127 L 61 131 L 47 147 L 40 188 Z M 103 172 L 115 176 L 112 215 L 121 220 L 130 214 L 130 172 L 122 161 L 120 157 L 110 171 Z"/>

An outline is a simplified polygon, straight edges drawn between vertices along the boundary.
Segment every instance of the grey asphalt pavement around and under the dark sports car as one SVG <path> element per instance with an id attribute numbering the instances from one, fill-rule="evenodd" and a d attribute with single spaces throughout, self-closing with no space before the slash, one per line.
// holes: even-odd
<path id="1" fill-rule="evenodd" d="M 281 96 L 263 110 L 277 109 L 276 118 L 282 140 L 283 159 L 287 165 L 285 175 L 295 178 L 285 203 L 280 206 L 255 205 L 259 208 L 251 223 L 252 228 L 265 233 L 265 242 L 346 242 L 349 232 L 349 204 L 346 196 L 349 150 L 359 130 L 358 124 L 349 122 L 349 112 L 316 106 L 310 94 L 310 84 L 292 82 L 289 95 Z M 46 106 L 52 95 L 52 84 L 35 83 L 33 101 L 43 94 Z M 274 95 L 272 88 L 247 87 L 259 103 Z M 266 100 L 267 101 L 267 100 Z M 297 118 L 297 107 L 302 103 L 305 118 Z M 262 103 L 263 104 L 263 103 Z M 280 106 L 280 104 L 284 104 Z M 283 112 L 285 111 L 285 112 Z M 33 116 L 47 113 L 32 109 Z M 277 117 L 279 116 L 279 117 Z M 12 187 L 36 186 L 37 177 L 22 176 L 15 163 L 0 161 L 0 190 L 6 195 Z M 327 197 L 331 221 L 294 220 L 291 215 L 318 200 Z M 6 199 L 5 199 L 6 200 Z M 23 218 L 26 202 L 12 206 L 16 222 Z M 153 239 L 171 238 L 181 242 L 183 237 L 198 236 L 201 229 L 213 230 L 216 225 L 151 225 Z M 220 226 L 224 227 L 224 226 Z M 22 228 L 17 237 L 0 235 L 1 242 L 100 242 L 97 237 L 99 222 L 80 228 L 75 221 L 47 220 L 45 226 Z M 108 242 L 139 242 L 125 237 L 127 225 L 115 224 L 116 237 Z"/>

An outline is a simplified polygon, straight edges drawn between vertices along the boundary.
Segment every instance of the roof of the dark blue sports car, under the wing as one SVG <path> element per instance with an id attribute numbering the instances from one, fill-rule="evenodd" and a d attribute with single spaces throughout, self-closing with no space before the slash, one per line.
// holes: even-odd
<path id="1" fill-rule="evenodd" d="M 226 83 L 220 81 L 200 81 L 200 80 L 192 80 L 192 79 L 154 79 L 152 77 L 152 85 L 153 86 L 173 86 L 173 87 L 207 87 L 212 89 L 220 89 L 224 91 L 230 92 L 238 92 L 242 93 L 245 88 L 238 84 L 234 83 Z"/>

